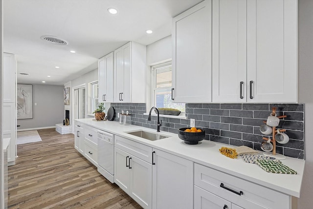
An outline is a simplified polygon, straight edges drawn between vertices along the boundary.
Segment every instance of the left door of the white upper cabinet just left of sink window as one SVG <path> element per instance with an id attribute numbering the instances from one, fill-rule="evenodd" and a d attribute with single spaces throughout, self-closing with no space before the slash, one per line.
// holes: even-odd
<path id="1" fill-rule="evenodd" d="M 119 47 L 114 51 L 114 101 L 121 101 L 121 94 L 124 91 L 124 56 L 123 48 Z"/>

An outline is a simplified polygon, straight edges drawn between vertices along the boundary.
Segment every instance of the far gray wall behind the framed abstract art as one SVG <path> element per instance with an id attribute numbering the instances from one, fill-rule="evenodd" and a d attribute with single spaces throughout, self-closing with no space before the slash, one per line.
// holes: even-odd
<path id="1" fill-rule="evenodd" d="M 33 84 L 33 118 L 18 119 L 18 130 L 51 127 L 63 123 L 63 91 L 64 86 Z"/>

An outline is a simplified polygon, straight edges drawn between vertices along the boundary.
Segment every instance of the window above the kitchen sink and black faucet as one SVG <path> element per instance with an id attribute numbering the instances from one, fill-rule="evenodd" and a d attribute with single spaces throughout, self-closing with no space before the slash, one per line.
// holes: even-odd
<path id="1" fill-rule="evenodd" d="M 173 103 L 172 100 L 172 63 L 152 67 L 154 76 L 154 105 L 157 108 L 174 108 L 185 112 L 185 103 Z"/>

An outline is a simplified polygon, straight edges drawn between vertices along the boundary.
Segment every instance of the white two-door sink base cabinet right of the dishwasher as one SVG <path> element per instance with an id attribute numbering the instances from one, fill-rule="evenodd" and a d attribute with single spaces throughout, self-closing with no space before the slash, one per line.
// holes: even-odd
<path id="1" fill-rule="evenodd" d="M 123 151 L 120 141 L 127 141 L 133 144 L 134 148 L 145 146 L 129 139 L 115 137 L 114 157 L 114 183 L 122 188 L 130 197 L 132 197 L 144 209 L 152 208 L 152 164 L 137 158 L 136 156 Z M 148 147 L 151 149 L 151 147 Z M 136 149 L 136 148 L 135 148 Z M 140 150 L 137 150 L 140 152 Z M 141 155 L 141 154 L 139 154 Z"/>

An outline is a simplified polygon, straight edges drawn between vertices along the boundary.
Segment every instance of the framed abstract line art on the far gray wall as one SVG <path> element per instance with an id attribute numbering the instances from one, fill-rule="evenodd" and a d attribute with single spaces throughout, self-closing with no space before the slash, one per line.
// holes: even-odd
<path id="1" fill-rule="evenodd" d="M 17 85 L 17 119 L 33 118 L 33 85 Z"/>

